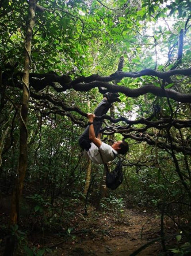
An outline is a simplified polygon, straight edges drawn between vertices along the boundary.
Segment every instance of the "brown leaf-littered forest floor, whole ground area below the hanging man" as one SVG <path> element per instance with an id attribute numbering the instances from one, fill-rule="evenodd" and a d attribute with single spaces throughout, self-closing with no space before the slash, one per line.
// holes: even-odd
<path id="1" fill-rule="evenodd" d="M 96 212 L 93 207 L 89 206 L 88 214 L 85 215 L 84 207 L 82 204 L 78 204 L 73 211 L 68 218 L 64 216 L 62 221 L 57 224 L 56 222 L 51 223 L 49 219 L 44 228 L 42 228 L 40 218 L 33 217 L 31 219 L 33 224 L 29 218 L 21 222 L 21 230 L 26 227 L 28 229 L 27 244 L 30 250 L 31 248 L 33 251 L 35 250 L 36 254 L 34 255 L 130 256 L 144 244 L 160 238 L 160 215 L 147 208 L 124 209 L 122 213 L 107 209 L 103 213 Z M 68 211 L 68 213 L 71 212 Z M 1 227 L 3 223 L 7 222 L 5 214 L 2 216 Z M 164 229 L 165 236 L 171 236 L 177 232 L 173 222 L 168 218 L 165 218 Z M 5 235 L 2 234 L 2 236 L 4 239 L 0 239 L 2 242 L 0 243 L 2 246 L 0 255 L 2 255 L 3 244 L 5 244 Z M 165 244 L 169 248 L 176 247 L 175 238 L 166 240 Z M 40 254 L 40 251 L 43 251 L 43 254 Z M 166 255 L 161 253 L 161 241 L 157 240 L 135 255 Z M 26 251 L 21 250 L 16 255 L 26 256 Z"/>

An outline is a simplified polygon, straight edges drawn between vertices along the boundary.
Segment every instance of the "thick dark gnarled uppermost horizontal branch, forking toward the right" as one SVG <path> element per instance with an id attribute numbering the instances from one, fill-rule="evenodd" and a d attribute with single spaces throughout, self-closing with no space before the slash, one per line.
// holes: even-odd
<path id="1" fill-rule="evenodd" d="M 18 72 L 13 76 L 13 73 L 9 72 L 3 73 L 2 81 L 5 84 L 10 84 L 10 77 L 14 81 L 14 86 L 22 87 L 22 84 L 18 81 L 17 76 L 22 76 L 22 72 Z M 47 86 L 51 86 L 57 92 L 63 92 L 66 90 L 74 89 L 76 91 L 90 91 L 92 88 L 98 87 L 101 93 L 104 93 L 103 88 L 110 92 L 121 92 L 128 97 L 136 98 L 144 94 L 154 94 L 158 97 L 169 97 L 174 99 L 174 101 L 182 103 L 191 102 L 191 94 L 181 94 L 172 89 L 163 89 L 156 87 L 154 84 L 148 84 L 146 86 L 130 89 L 125 86 L 119 86 L 116 84 L 110 84 L 109 81 L 121 80 L 123 77 L 140 77 L 140 76 L 156 76 L 160 79 L 169 79 L 173 75 L 183 75 L 190 76 L 191 68 L 188 69 L 173 69 L 167 72 L 154 71 L 153 69 L 144 69 L 140 72 L 115 72 L 110 76 L 99 76 L 91 75 L 88 77 L 78 77 L 77 79 L 71 81 L 70 76 L 62 75 L 58 76 L 55 72 L 49 72 L 45 74 L 30 73 L 30 86 L 35 88 L 35 90 L 43 90 Z M 56 85 L 59 84 L 59 86 Z"/>

